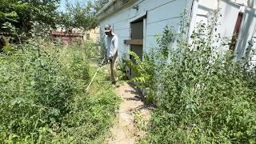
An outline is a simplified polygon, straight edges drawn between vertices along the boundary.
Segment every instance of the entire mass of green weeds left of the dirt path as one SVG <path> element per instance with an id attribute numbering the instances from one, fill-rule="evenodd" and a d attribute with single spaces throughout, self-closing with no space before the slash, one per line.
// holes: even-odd
<path id="1" fill-rule="evenodd" d="M 102 142 L 119 99 L 98 78 L 97 92 L 87 94 L 90 80 L 86 46 L 38 45 L 0 55 L 0 142 Z"/>

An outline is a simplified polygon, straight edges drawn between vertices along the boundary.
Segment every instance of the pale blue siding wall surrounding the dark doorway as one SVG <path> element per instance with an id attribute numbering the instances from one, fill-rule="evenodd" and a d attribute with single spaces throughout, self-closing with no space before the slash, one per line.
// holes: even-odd
<path id="1" fill-rule="evenodd" d="M 192 0 L 138 0 L 102 19 L 101 36 L 104 35 L 103 29 L 106 24 L 113 26 L 114 33 L 119 38 L 119 56 L 122 57 L 122 54 L 126 54 L 130 49 L 129 45 L 124 44 L 124 40 L 130 39 L 130 22 L 146 14 L 143 46 L 144 50 L 148 51 L 157 46 L 155 36 L 162 34 L 165 26 L 174 26 L 174 29 L 178 30 L 180 14 L 186 10 L 188 3 L 192 4 Z M 138 6 L 138 10 L 134 6 Z"/>

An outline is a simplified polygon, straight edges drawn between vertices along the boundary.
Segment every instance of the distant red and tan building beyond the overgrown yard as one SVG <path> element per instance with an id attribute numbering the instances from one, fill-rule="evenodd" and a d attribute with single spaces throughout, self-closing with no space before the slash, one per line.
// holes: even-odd
<path id="1" fill-rule="evenodd" d="M 73 29 L 69 32 L 66 32 L 66 30 L 58 28 L 57 30 L 52 31 L 51 35 L 54 38 L 62 38 L 64 44 L 66 45 L 71 44 L 77 38 L 81 38 L 83 41 L 92 40 L 93 42 L 97 42 L 99 38 L 99 29 L 95 28 L 89 31 Z"/>

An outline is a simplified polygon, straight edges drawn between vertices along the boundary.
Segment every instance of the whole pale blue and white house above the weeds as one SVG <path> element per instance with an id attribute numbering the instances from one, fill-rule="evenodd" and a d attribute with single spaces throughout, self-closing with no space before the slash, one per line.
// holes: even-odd
<path id="1" fill-rule="evenodd" d="M 100 34 L 104 26 L 113 26 L 118 34 L 119 56 L 134 51 L 142 58 L 142 52 L 157 45 L 156 34 L 162 34 L 165 26 L 179 28 L 181 15 L 187 11 L 190 18 L 190 32 L 198 22 L 206 22 L 211 10 L 220 8 L 221 18 L 217 33 L 223 38 L 233 38 L 238 58 L 245 53 L 248 42 L 256 37 L 256 0 L 110 0 L 98 12 Z M 226 48 L 223 48 L 226 49 Z M 256 62 L 256 56 L 252 61 Z"/>

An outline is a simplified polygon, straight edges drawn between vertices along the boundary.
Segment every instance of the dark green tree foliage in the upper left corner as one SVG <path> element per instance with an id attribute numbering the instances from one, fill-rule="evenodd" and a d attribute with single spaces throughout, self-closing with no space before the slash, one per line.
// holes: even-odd
<path id="1" fill-rule="evenodd" d="M 31 29 L 31 22 L 42 22 L 54 26 L 59 0 L 2 0 L 0 24 L 10 22 L 20 30 Z M 0 28 L 0 31 L 3 31 Z"/>

